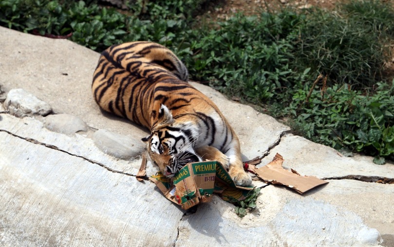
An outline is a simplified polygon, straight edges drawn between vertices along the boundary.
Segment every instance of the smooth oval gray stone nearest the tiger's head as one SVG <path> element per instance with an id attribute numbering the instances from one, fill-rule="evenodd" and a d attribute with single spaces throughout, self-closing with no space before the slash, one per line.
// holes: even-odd
<path id="1" fill-rule="evenodd" d="M 99 129 L 94 132 L 93 141 L 101 151 L 119 159 L 138 157 L 145 149 L 141 140 L 106 129 Z"/>

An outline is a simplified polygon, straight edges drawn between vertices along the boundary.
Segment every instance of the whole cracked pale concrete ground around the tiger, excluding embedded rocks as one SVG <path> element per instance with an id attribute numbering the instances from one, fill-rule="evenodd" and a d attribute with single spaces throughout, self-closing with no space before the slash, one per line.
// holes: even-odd
<path id="1" fill-rule="evenodd" d="M 43 117 L 16 118 L 0 104 L 0 245 L 2 246 L 390 246 L 394 185 L 356 180 L 300 195 L 269 185 L 257 209 L 239 218 L 218 196 L 185 214 L 135 174 L 138 155 L 117 159 L 97 148 L 98 129 L 139 139 L 146 131 L 103 114 L 90 91 L 98 54 L 68 40 L 0 27 L 0 85 L 23 88 L 55 113 L 81 118 L 88 131 L 65 135 Z M 288 126 L 193 84 L 219 106 L 237 132 L 244 159 L 278 152 L 284 167 L 320 178 L 394 177 L 393 164 L 346 158 L 298 136 Z M 136 147 L 143 150 L 143 146 Z M 136 152 L 138 153 L 138 152 Z M 148 166 L 148 174 L 155 169 Z"/>

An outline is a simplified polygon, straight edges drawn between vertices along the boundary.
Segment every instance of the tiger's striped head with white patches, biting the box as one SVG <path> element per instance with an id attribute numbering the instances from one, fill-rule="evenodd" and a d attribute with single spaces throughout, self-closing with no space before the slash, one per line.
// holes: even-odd
<path id="1" fill-rule="evenodd" d="M 201 161 L 194 151 L 195 135 L 188 124 L 176 123 L 165 105 L 160 106 L 159 124 L 150 136 L 142 141 L 148 142 L 148 157 L 158 166 L 163 175 L 172 177 L 189 162 Z"/>

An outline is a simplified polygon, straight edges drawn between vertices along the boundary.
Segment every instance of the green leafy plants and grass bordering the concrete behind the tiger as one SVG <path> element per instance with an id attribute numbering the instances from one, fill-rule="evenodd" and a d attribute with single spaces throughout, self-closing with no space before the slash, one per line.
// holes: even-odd
<path id="1" fill-rule="evenodd" d="M 183 59 L 191 79 L 288 119 L 295 133 L 345 153 L 394 160 L 391 59 L 394 10 L 378 0 L 320 9 L 193 18 L 205 0 L 138 0 L 128 12 L 95 0 L 2 0 L 0 25 L 69 35 L 95 51 L 150 40 Z"/>

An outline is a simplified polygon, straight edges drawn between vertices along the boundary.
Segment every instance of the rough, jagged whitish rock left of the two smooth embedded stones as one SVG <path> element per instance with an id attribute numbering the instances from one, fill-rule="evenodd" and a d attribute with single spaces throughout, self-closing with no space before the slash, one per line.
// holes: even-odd
<path id="1" fill-rule="evenodd" d="M 46 116 L 52 111 L 50 105 L 22 88 L 11 89 L 3 105 L 6 110 L 19 118 L 32 115 Z"/>

